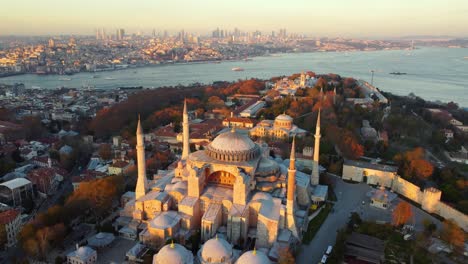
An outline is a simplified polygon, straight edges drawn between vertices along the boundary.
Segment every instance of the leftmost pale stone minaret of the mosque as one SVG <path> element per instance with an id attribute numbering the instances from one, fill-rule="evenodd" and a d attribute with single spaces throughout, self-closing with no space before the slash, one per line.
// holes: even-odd
<path id="1" fill-rule="evenodd" d="M 135 189 L 135 199 L 138 200 L 145 196 L 148 190 L 148 181 L 146 179 L 146 162 L 145 162 L 145 145 L 143 141 L 143 129 L 141 128 L 140 116 L 138 116 L 137 126 L 137 165 L 138 165 L 138 179 Z"/>

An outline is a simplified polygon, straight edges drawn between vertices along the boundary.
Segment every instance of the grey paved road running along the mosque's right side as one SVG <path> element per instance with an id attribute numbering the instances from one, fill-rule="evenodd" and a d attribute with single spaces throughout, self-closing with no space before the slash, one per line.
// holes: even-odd
<path id="1" fill-rule="evenodd" d="M 333 177 L 335 181 L 334 213 L 330 213 L 309 245 L 302 245 L 296 259 L 299 264 L 319 263 L 328 245 L 334 245 L 336 233 L 343 228 L 353 211 L 358 211 L 362 201 L 366 200 L 366 193 L 371 190 L 367 184 L 351 184 Z"/>

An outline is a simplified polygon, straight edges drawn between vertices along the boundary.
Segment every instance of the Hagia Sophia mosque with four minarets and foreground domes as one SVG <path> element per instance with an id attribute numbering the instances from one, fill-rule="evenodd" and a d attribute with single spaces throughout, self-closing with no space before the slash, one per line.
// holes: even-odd
<path id="1" fill-rule="evenodd" d="M 181 159 L 174 170 L 148 181 L 140 122 L 136 134 L 135 197 L 120 213 L 129 221 L 119 232 L 150 247 L 177 241 L 162 247 L 153 263 L 271 263 L 281 248 L 300 244 L 308 208 L 326 190 L 318 185 L 320 112 L 310 175 L 296 171 L 295 139 L 289 167 L 270 157 L 266 143 L 253 142 L 235 128 L 190 153 L 184 104 Z M 202 245 L 193 255 L 183 245 L 198 232 Z"/>

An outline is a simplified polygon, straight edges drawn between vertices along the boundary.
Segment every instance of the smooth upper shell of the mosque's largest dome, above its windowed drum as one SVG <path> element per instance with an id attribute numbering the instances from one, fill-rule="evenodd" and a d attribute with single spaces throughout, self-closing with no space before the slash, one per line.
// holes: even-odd
<path id="1" fill-rule="evenodd" d="M 255 143 L 247 136 L 229 131 L 217 136 L 210 147 L 216 150 L 249 151 L 255 148 Z"/>

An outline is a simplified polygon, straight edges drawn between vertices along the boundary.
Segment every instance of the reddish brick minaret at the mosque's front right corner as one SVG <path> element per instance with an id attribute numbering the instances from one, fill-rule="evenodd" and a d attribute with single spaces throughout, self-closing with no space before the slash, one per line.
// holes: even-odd
<path id="1" fill-rule="evenodd" d="M 291 231 L 295 237 L 299 237 L 294 216 L 294 206 L 296 200 L 296 137 L 293 138 L 291 146 L 291 157 L 289 158 L 288 168 L 288 187 L 286 194 L 286 228 Z"/>

